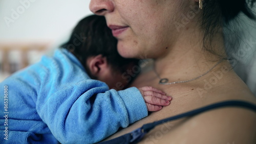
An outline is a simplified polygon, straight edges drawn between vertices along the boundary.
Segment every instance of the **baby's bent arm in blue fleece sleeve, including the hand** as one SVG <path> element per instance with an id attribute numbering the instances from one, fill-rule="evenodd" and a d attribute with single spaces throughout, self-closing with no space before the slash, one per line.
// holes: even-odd
<path id="1" fill-rule="evenodd" d="M 40 79 L 35 83 L 35 105 L 42 121 L 61 143 L 98 142 L 119 127 L 147 116 L 147 107 L 157 110 L 152 108 L 161 102 L 156 94 L 161 92 L 154 89 L 109 90 L 105 83 L 88 79 L 65 55 L 57 53 L 56 57 L 44 58 L 33 67 L 34 77 Z"/>

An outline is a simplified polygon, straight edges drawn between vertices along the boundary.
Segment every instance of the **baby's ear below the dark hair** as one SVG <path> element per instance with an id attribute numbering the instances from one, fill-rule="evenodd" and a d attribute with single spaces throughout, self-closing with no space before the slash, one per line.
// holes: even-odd
<path id="1" fill-rule="evenodd" d="M 108 62 L 106 61 L 106 57 L 97 55 L 89 57 L 87 59 L 87 65 L 91 75 L 97 78 L 102 73 L 102 71 L 108 67 Z"/>

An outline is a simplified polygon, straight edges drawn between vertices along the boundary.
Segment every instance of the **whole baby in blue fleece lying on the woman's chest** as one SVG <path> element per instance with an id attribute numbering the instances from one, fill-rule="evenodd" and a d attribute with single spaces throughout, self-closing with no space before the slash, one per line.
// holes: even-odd
<path id="1" fill-rule="evenodd" d="M 17 71 L 2 83 L 0 138 L 9 143 L 95 143 L 169 105 L 153 87 L 131 87 L 124 76 L 138 60 L 118 55 L 104 17 L 82 19 L 53 57 Z M 116 89 L 110 89 L 115 87 Z M 119 91 L 117 91 L 119 90 Z M 10 124 L 10 125 L 9 125 Z M 8 140 L 7 140 L 8 139 Z"/>

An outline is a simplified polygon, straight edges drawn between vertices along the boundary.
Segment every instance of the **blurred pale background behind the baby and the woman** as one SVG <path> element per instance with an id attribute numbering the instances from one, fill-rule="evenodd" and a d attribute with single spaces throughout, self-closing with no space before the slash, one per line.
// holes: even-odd
<path id="1" fill-rule="evenodd" d="M 66 42 L 77 22 L 92 14 L 89 0 L 42 1 L 0 0 L 0 82 L 15 71 L 52 54 Z M 254 8 L 256 12 L 256 8 Z M 244 36 L 226 39 L 227 47 L 236 41 L 237 74 L 256 95 L 256 24 L 245 16 L 240 31 Z M 230 37 L 232 34 L 228 34 Z"/>

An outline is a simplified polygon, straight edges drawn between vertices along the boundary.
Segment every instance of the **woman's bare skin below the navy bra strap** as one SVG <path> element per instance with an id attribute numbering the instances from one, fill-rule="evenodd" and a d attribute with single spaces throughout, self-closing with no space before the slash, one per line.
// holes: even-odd
<path id="1" fill-rule="evenodd" d="M 256 143 L 256 114 L 244 108 L 221 108 L 158 127 L 144 138 L 152 143 Z M 172 130 L 166 131 L 167 128 Z"/>

